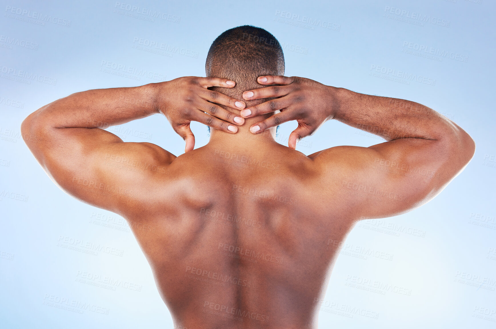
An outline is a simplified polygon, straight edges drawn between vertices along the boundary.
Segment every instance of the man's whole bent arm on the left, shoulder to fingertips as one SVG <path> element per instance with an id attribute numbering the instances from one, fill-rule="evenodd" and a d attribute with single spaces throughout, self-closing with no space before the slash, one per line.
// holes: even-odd
<path id="1" fill-rule="evenodd" d="M 207 89 L 212 83 L 231 87 L 228 80 L 204 79 L 184 77 L 140 87 L 75 93 L 29 115 L 21 132 L 43 169 L 64 191 L 121 213 L 120 209 L 131 204 L 146 203 L 140 201 L 150 197 L 151 182 L 167 176 L 167 166 L 176 157 L 152 143 L 123 142 L 103 129 L 163 113 L 178 133 L 191 132 L 190 121 L 205 120 L 210 126 L 231 132 L 227 127 L 233 116 L 222 117 L 222 111 L 228 111 L 210 103 L 208 96 L 233 106 L 236 100 L 222 94 L 225 98 L 217 97 Z M 205 113 L 209 110 L 216 117 Z"/>

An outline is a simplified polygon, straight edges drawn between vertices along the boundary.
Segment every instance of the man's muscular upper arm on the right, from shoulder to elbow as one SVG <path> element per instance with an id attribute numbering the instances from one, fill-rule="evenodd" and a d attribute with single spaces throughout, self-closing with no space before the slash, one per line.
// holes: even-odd
<path id="1" fill-rule="evenodd" d="M 434 196 L 467 161 L 454 161 L 449 142 L 402 138 L 370 147 L 337 146 L 314 155 L 327 193 L 356 219 L 407 212 Z"/>

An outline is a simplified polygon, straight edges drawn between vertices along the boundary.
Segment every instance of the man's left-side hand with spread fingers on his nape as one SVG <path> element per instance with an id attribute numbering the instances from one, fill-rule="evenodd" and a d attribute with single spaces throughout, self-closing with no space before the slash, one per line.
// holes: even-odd
<path id="1" fill-rule="evenodd" d="M 214 86 L 232 88 L 235 85 L 236 82 L 223 78 L 198 76 L 184 76 L 157 84 L 159 111 L 167 117 L 174 131 L 186 141 L 185 152 L 194 148 L 194 135 L 189 127 L 191 121 L 230 133 L 236 133 L 236 125 L 245 123 L 241 116 L 213 104 L 222 104 L 240 111 L 245 108 L 244 102 L 207 89 Z"/>

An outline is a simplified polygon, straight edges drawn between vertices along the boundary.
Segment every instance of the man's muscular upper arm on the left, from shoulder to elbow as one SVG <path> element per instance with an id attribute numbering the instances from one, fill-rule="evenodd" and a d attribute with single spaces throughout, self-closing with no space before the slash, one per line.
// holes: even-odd
<path id="1" fill-rule="evenodd" d="M 68 194 L 120 213 L 141 203 L 152 181 L 167 175 L 175 156 L 152 143 L 123 142 L 98 128 L 47 128 L 26 143 L 47 174 Z"/>

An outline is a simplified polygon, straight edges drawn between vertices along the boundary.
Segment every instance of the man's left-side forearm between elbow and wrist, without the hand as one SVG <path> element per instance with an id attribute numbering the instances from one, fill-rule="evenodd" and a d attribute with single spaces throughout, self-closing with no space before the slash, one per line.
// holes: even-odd
<path id="1" fill-rule="evenodd" d="M 157 84 L 74 93 L 32 113 L 23 123 L 33 129 L 102 128 L 159 113 Z"/>

